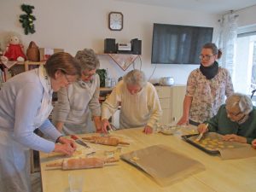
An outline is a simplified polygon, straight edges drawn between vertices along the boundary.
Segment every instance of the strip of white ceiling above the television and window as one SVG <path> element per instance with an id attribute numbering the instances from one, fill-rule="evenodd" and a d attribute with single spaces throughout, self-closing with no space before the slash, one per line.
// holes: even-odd
<path id="1" fill-rule="evenodd" d="M 189 9 L 210 14 L 225 14 L 256 5 L 256 0 L 116 0 L 127 3 L 142 3 L 174 9 Z"/>

